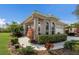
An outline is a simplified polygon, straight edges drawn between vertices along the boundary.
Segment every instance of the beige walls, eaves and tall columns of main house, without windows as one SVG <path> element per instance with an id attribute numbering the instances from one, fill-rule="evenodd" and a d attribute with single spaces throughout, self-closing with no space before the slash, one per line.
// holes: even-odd
<path id="1" fill-rule="evenodd" d="M 57 34 L 58 32 L 61 33 L 61 34 L 64 33 L 64 24 L 61 25 L 55 19 L 50 19 L 50 18 L 47 19 L 47 18 L 44 18 L 44 17 L 41 18 L 41 19 L 39 19 L 39 18 L 41 18 L 41 17 L 35 17 L 35 15 L 33 15 L 31 19 L 28 19 L 28 20 L 30 20 L 32 22 L 32 24 L 28 23 L 30 21 L 27 22 L 27 25 L 30 25 L 34 29 L 34 39 L 36 39 L 36 37 L 38 36 L 38 26 L 39 26 L 38 22 L 39 22 L 39 20 L 40 20 L 40 34 L 46 34 L 46 22 L 49 23 L 48 34 L 52 34 L 52 32 L 53 32 L 52 31 L 52 26 L 53 26 L 52 23 L 53 22 L 55 24 L 55 29 L 54 29 L 55 34 Z M 25 29 L 26 27 L 25 26 L 26 25 L 23 25 L 23 27 L 24 27 L 24 33 L 26 31 L 26 29 Z"/>

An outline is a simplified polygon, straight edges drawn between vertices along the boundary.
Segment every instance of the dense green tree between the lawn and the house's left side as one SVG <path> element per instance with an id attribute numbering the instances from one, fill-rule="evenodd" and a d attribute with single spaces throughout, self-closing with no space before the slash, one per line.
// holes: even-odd
<path id="1" fill-rule="evenodd" d="M 17 24 L 16 22 L 13 22 L 9 26 L 9 29 L 12 32 L 12 36 L 21 37 L 23 35 L 23 33 L 22 33 L 22 31 L 23 31 L 22 25 Z"/>

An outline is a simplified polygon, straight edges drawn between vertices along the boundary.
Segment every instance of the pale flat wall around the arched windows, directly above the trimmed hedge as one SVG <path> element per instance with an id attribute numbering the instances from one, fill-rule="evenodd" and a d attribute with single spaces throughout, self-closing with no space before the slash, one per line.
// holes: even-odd
<path id="1" fill-rule="evenodd" d="M 51 21 L 49 22 L 46 20 L 40 21 L 40 33 L 46 34 L 46 22 L 49 23 L 49 34 L 52 34 L 52 22 Z M 54 31 L 55 31 L 55 34 L 57 34 L 57 33 L 63 34 L 64 33 L 64 26 L 55 24 Z"/>

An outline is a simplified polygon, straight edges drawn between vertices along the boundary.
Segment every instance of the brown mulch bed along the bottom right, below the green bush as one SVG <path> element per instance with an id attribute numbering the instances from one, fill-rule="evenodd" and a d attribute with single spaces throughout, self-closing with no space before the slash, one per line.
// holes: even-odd
<path id="1" fill-rule="evenodd" d="M 71 51 L 68 49 L 57 49 L 49 52 L 51 55 L 79 55 L 79 52 Z"/>

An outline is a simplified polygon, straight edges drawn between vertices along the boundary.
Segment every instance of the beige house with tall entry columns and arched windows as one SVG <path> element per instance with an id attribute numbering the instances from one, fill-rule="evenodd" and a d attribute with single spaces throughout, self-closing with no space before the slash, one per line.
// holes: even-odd
<path id="1" fill-rule="evenodd" d="M 22 23 L 22 25 L 25 35 L 29 26 L 33 28 L 33 39 L 36 39 L 38 35 L 63 34 L 66 24 L 53 15 L 43 15 L 40 12 L 35 11 Z"/>

